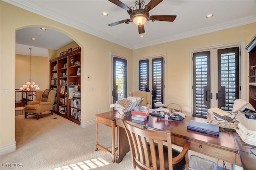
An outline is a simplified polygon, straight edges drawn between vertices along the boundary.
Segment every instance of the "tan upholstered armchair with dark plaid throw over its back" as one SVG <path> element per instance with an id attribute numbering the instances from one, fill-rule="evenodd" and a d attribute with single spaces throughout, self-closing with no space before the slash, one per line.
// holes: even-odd
<path id="1" fill-rule="evenodd" d="M 25 106 L 25 119 L 28 115 L 36 116 L 36 120 L 39 117 L 44 117 L 52 114 L 52 107 L 54 104 L 56 91 L 52 89 L 46 89 L 44 91 L 36 91 L 36 101 L 29 101 L 28 105 Z M 50 113 L 44 113 L 50 111 Z"/>

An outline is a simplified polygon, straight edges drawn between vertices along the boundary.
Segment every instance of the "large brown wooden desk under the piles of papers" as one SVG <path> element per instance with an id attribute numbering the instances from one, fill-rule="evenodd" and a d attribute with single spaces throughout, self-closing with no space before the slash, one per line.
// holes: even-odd
<path id="1" fill-rule="evenodd" d="M 188 130 L 187 125 L 190 120 L 195 120 L 199 122 L 206 122 L 206 119 L 186 117 L 182 121 L 163 121 L 162 118 L 149 115 L 148 120 L 145 122 L 134 121 L 131 117 L 125 117 L 119 115 L 116 111 L 110 111 L 106 113 L 99 114 L 99 116 L 104 117 L 106 115 L 109 117 L 114 117 L 117 126 L 117 137 L 118 137 L 118 146 L 117 146 L 117 156 L 116 162 L 119 163 L 122 161 L 127 152 L 130 151 L 130 146 L 128 138 L 124 129 L 123 120 L 131 121 L 138 123 L 145 128 L 153 128 L 155 130 L 171 130 L 171 140 L 173 144 L 178 146 L 183 146 L 187 141 L 191 142 L 190 150 L 212 156 L 232 164 L 237 164 L 242 166 L 240 156 L 242 156 L 242 147 L 241 150 L 237 148 L 237 141 L 235 141 L 234 136 L 236 133 L 233 132 L 219 132 L 219 136 L 214 136 L 211 134 L 205 134 L 202 132 L 196 132 L 194 130 Z M 239 137 L 239 136 L 238 136 Z M 239 137 L 240 138 L 240 137 Z M 240 156 L 238 152 L 241 151 Z M 246 152 L 248 153 L 248 152 Z M 243 160 L 246 158 L 244 157 Z M 253 158 L 254 160 L 256 158 Z M 253 161 L 252 161 L 253 162 Z M 243 163 L 243 162 L 242 162 Z M 254 163 L 252 163 L 254 165 Z M 246 165 L 243 164 L 243 167 Z M 255 168 L 252 168 L 255 169 Z M 246 168 L 244 168 L 246 170 Z"/>

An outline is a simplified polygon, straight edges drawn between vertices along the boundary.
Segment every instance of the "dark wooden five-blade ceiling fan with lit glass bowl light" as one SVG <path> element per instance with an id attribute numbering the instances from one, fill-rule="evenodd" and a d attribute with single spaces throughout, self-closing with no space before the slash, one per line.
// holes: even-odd
<path id="1" fill-rule="evenodd" d="M 160 2 L 163 0 L 150 0 L 150 2 L 143 8 L 145 2 L 142 1 L 135 1 L 135 7 L 133 6 L 128 7 L 126 4 L 121 2 L 120 0 L 108 0 L 112 2 L 113 4 L 116 4 L 120 8 L 123 8 L 127 10 L 128 14 L 130 15 L 130 19 L 114 22 L 112 24 L 108 24 L 108 26 L 116 26 L 118 24 L 126 23 L 129 24 L 129 22 L 134 22 L 134 24 L 138 25 L 139 34 L 142 34 L 145 32 L 144 24 L 146 21 L 151 20 L 154 21 L 169 21 L 173 22 L 176 18 L 176 15 L 152 15 L 149 16 L 149 11 L 152 10 L 155 6 L 157 6 Z"/>

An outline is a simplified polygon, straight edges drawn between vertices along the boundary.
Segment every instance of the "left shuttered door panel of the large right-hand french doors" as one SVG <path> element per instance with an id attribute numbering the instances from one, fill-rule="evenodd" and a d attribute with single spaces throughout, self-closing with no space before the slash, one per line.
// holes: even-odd
<path id="1" fill-rule="evenodd" d="M 206 117 L 210 102 L 204 105 L 204 89 L 210 91 L 210 52 L 199 52 L 193 54 L 194 63 L 194 117 Z"/>

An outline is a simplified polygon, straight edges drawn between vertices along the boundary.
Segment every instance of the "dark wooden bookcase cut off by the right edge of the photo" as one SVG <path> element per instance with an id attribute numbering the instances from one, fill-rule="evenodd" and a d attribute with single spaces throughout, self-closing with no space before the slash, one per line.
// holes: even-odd
<path id="1" fill-rule="evenodd" d="M 249 53 L 249 102 L 256 109 L 256 35 L 245 49 Z"/>

